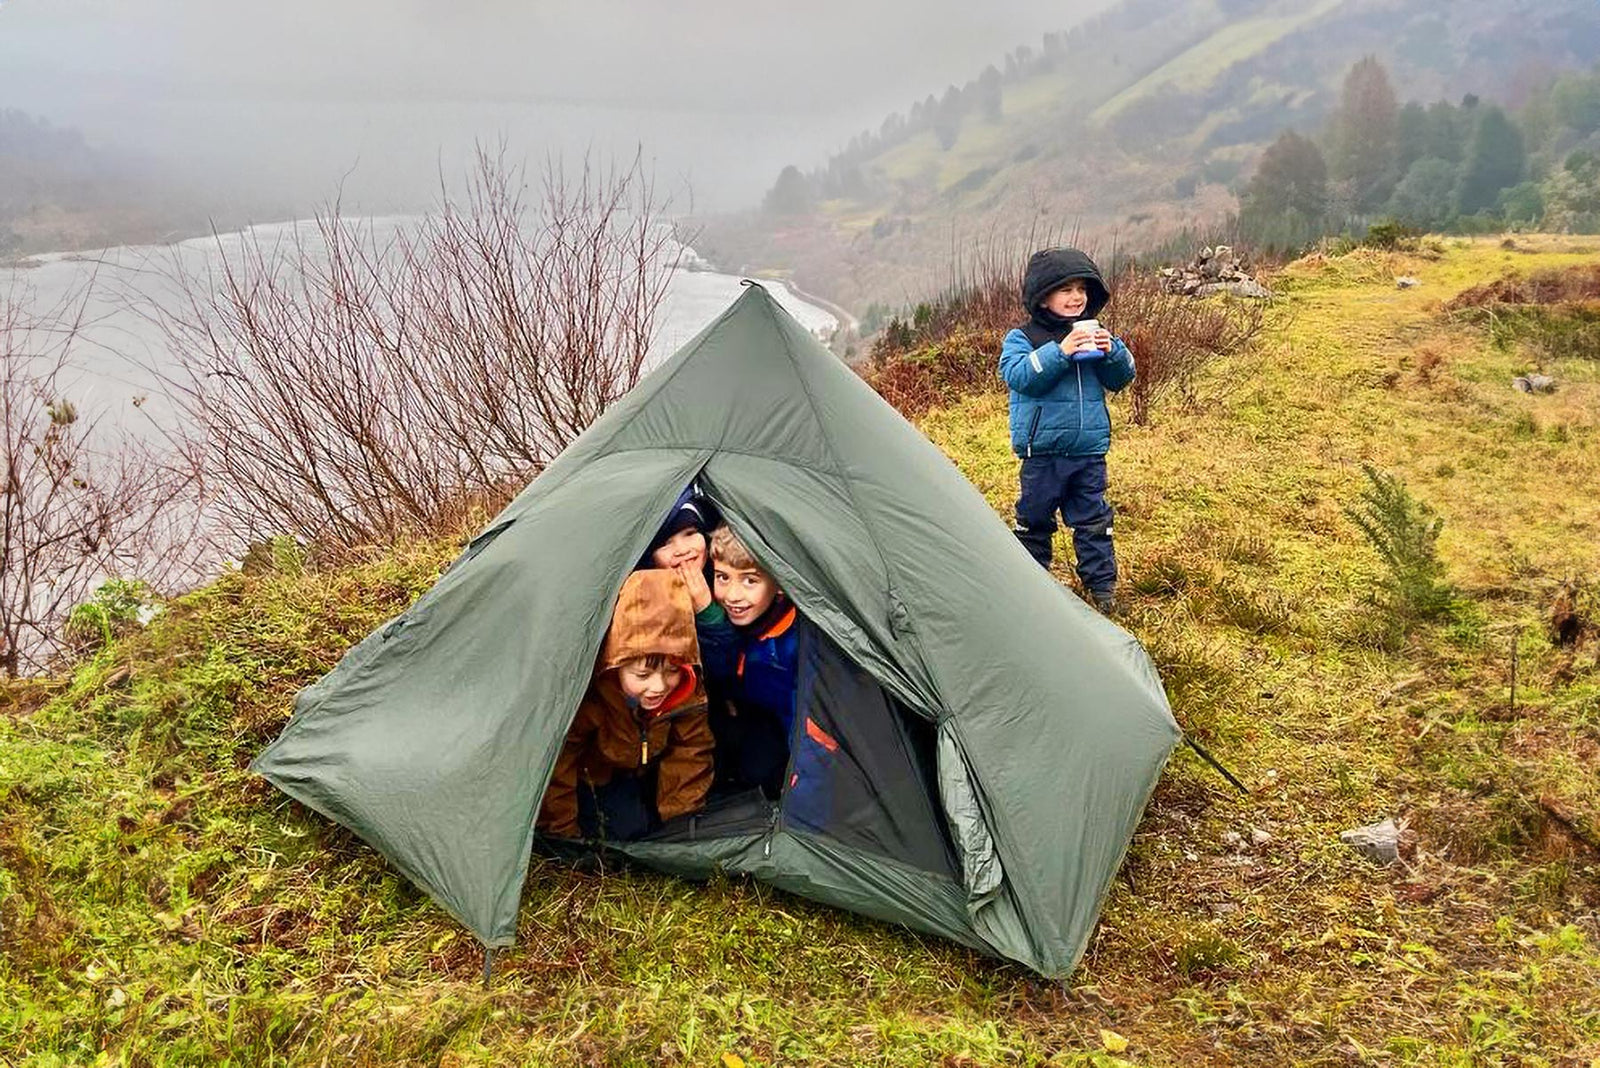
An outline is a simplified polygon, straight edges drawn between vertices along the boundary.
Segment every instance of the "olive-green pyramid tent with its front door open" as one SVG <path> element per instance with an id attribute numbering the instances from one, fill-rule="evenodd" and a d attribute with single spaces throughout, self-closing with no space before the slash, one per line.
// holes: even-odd
<path id="1" fill-rule="evenodd" d="M 510 945 L 611 606 L 694 478 L 811 622 L 797 723 L 840 740 L 834 815 L 779 801 L 616 847 L 1069 974 L 1179 737 L 1160 679 L 755 285 L 307 687 L 254 769 Z"/>

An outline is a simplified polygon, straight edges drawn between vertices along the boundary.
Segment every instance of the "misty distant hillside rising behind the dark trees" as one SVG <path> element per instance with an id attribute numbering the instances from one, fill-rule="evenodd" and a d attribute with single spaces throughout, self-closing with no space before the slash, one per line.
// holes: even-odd
<path id="1" fill-rule="evenodd" d="M 1008 58 L 998 115 L 968 110 L 949 145 L 930 98 L 922 125 L 891 117 L 818 166 L 814 203 L 707 219 L 696 245 L 730 270 L 792 272 L 856 313 L 939 289 L 952 249 L 1152 246 L 1226 219 L 1262 147 L 1317 130 L 1363 54 L 1402 101 L 1515 107 L 1552 72 L 1600 61 L 1600 21 L 1582 0 L 1123 0 Z"/>

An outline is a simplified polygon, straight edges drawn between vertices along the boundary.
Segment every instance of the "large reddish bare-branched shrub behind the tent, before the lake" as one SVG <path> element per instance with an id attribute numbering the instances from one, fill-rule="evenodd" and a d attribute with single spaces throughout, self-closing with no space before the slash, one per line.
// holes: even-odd
<path id="1" fill-rule="evenodd" d="M 635 158 L 546 168 L 480 150 L 461 200 L 379 241 L 338 206 L 246 235 L 158 313 L 178 449 L 219 534 L 323 550 L 450 529 L 538 473 L 638 381 L 677 267 Z M 219 238 L 219 248 L 222 248 Z"/>

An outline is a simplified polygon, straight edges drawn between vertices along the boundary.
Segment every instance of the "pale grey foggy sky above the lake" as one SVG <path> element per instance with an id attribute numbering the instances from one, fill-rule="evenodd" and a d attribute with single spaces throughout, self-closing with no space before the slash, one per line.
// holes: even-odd
<path id="1" fill-rule="evenodd" d="M 728 209 L 1109 2 L 0 0 L 0 107 L 298 208 L 419 206 L 506 137 Z"/>

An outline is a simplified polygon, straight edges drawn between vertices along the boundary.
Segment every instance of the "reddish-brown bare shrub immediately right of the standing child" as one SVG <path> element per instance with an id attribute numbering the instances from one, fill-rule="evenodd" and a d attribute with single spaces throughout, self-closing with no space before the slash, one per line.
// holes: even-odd
<path id="1" fill-rule="evenodd" d="M 1163 293 L 1158 275 L 1128 270 L 1112 285 L 1102 318 L 1133 352 L 1133 422 L 1146 425 L 1158 401 L 1171 395 L 1189 398 L 1202 368 L 1238 352 L 1261 333 L 1262 307 L 1251 301 L 1197 301 Z"/>

